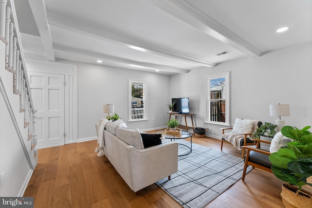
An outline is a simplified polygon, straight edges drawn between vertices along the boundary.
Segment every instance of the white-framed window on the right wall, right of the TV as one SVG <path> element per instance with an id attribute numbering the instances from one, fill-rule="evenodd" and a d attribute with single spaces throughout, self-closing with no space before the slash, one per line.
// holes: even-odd
<path id="1" fill-rule="evenodd" d="M 230 73 L 206 76 L 206 122 L 230 125 Z"/>

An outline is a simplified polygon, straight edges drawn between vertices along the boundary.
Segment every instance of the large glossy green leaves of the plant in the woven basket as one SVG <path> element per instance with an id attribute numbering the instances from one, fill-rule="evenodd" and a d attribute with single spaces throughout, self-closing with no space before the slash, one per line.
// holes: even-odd
<path id="1" fill-rule="evenodd" d="M 301 190 L 303 185 L 312 186 L 307 178 L 312 176 L 312 133 L 306 126 L 302 130 L 296 127 L 284 126 L 282 134 L 293 139 L 287 143 L 287 148 L 281 148 L 271 153 L 269 159 L 272 163 L 273 174 Z"/>

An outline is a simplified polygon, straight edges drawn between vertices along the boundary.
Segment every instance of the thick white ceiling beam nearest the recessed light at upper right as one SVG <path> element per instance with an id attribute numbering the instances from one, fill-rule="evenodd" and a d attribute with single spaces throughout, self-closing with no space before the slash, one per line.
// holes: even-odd
<path id="1" fill-rule="evenodd" d="M 214 20 L 208 18 L 184 0 L 146 1 L 154 4 L 159 9 L 169 13 L 177 19 L 188 23 L 199 31 L 232 46 L 248 56 L 259 57 L 262 54 L 262 52 L 254 48 L 254 46 L 250 45 L 242 38 L 239 38 Z"/>

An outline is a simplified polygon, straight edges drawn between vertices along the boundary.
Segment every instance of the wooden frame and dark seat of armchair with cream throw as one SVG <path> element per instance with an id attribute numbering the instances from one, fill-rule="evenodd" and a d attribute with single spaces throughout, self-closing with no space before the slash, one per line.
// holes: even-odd
<path id="1" fill-rule="evenodd" d="M 240 134 L 241 137 L 239 137 L 239 140 L 240 140 L 239 141 L 239 147 L 242 150 L 242 158 L 244 158 L 244 155 L 245 155 L 245 148 L 243 148 L 243 147 L 255 144 L 254 140 L 252 140 L 252 138 L 250 138 L 250 137 L 253 135 L 254 130 L 257 127 L 260 127 L 261 124 L 262 124 L 262 122 L 259 121 L 257 124 L 255 123 L 255 127 L 252 129 L 252 131 L 250 131 L 248 133 L 241 133 Z M 235 124 L 234 124 L 234 126 L 235 126 Z M 223 135 L 225 133 L 225 130 L 233 130 L 233 128 L 221 128 L 220 130 L 222 130 L 222 135 Z M 224 138 L 222 135 L 221 135 L 221 151 L 222 151 L 222 147 L 223 147 L 223 142 L 232 144 L 231 142 L 227 141 L 226 138 Z"/>

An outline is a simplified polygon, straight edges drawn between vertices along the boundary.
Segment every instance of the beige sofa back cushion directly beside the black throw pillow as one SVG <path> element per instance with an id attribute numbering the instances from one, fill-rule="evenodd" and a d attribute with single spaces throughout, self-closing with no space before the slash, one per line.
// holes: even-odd
<path id="1" fill-rule="evenodd" d="M 128 145 L 131 145 L 138 150 L 144 149 L 141 135 L 137 130 L 118 127 L 116 129 L 116 136 Z"/>

